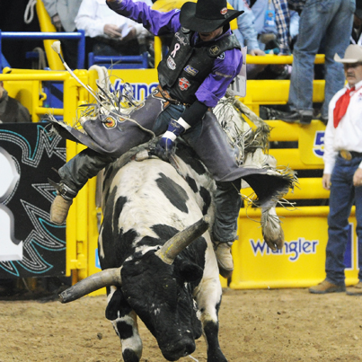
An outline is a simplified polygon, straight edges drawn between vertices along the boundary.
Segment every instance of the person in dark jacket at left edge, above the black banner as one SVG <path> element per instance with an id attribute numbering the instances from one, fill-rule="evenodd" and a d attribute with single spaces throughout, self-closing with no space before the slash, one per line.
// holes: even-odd
<path id="1" fill-rule="evenodd" d="M 31 122 L 31 115 L 21 102 L 9 97 L 0 81 L 0 123 Z"/>

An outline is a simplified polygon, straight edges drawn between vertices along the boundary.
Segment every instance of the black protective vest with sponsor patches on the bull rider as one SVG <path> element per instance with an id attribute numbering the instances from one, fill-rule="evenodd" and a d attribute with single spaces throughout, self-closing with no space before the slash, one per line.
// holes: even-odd
<path id="1" fill-rule="evenodd" d="M 161 86 L 172 98 L 189 104 L 196 101 L 195 93 L 211 73 L 216 57 L 223 57 L 225 50 L 241 49 L 234 34 L 210 41 L 207 46 L 203 43 L 202 47 L 192 47 L 193 34 L 184 28 L 176 32 L 168 55 L 157 68 Z"/>

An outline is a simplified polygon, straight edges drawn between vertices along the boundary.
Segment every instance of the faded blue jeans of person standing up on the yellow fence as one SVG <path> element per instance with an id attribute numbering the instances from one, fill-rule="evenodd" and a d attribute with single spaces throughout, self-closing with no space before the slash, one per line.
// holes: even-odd
<path id="1" fill-rule="evenodd" d="M 314 58 L 324 41 L 325 90 L 322 117 L 328 118 L 331 97 L 343 88 L 343 66 L 333 60 L 344 57 L 352 31 L 355 0 L 307 0 L 299 20 L 299 34 L 293 50 L 288 104 L 291 110 L 313 115 Z"/>

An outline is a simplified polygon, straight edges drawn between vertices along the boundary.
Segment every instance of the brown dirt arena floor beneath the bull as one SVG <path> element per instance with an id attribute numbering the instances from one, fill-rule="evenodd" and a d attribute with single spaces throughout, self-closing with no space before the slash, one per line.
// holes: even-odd
<path id="1" fill-rule="evenodd" d="M 57 301 L 0 301 L 0 362 L 122 361 L 120 343 L 105 319 L 105 296 Z M 142 361 L 163 362 L 140 322 Z M 307 289 L 225 289 L 220 345 L 229 362 L 362 361 L 362 297 L 316 296 Z M 193 359 L 195 358 L 195 359 Z M 201 338 L 192 358 L 207 361 Z"/>

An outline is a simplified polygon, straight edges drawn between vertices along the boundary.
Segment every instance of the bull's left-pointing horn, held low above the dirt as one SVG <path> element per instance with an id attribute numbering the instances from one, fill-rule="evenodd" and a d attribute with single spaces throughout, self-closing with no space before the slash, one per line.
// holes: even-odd
<path id="1" fill-rule="evenodd" d="M 82 296 L 86 296 L 102 287 L 120 286 L 120 268 L 105 269 L 99 273 L 93 274 L 88 278 L 76 283 L 73 287 L 68 287 L 60 293 L 59 300 L 61 303 L 73 302 Z"/>

